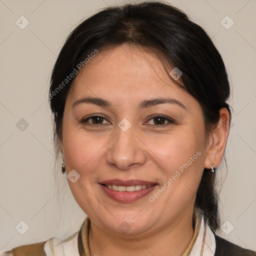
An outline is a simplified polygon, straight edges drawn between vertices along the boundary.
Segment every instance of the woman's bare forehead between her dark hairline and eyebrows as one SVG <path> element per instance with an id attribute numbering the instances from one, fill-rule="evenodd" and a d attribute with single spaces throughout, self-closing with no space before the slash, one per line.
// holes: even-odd
<path id="1" fill-rule="evenodd" d="M 76 75 L 70 95 L 86 94 L 113 100 L 143 100 L 155 96 L 189 96 L 171 79 L 153 52 L 120 45 L 99 51 Z M 115 98 L 114 98 L 115 97 Z"/>

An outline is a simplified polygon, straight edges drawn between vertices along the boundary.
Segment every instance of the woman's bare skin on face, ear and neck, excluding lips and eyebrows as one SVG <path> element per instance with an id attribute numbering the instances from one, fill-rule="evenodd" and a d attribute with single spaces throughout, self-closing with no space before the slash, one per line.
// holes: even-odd
<path id="1" fill-rule="evenodd" d="M 83 97 L 101 97 L 111 106 L 73 103 Z M 145 99 L 172 98 L 138 110 Z M 103 124 L 93 124 L 95 114 Z M 164 115 L 174 122 L 157 118 Z M 131 126 L 123 131 L 118 123 Z M 94 120 L 95 121 L 95 120 Z M 98 122 L 99 123 L 99 122 Z M 178 87 L 157 57 L 141 48 L 121 45 L 99 51 L 76 75 L 68 92 L 61 150 L 66 172 L 75 169 L 80 178 L 69 186 L 91 221 L 91 255 L 181 255 L 193 235 L 195 194 L 204 167 L 217 167 L 222 159 L 229 129 L 229 115 L 220 109 L 220 120 L 206 137 L 199 103 Z M 155 124 L 155 126 L 153 126 Z M 157 126 L 158 124 L 158 126 Z M 157 198 L 153 195 L 197 151 L 201 154 Z M 129 203 L 104 194 L 98 182 L 106 179 L 142 179 L 158 186 L 148 195 Z M 119 229 L 126 221 L 127 233 Z M 151 254 L 150 254 L 151 253 Z"/>

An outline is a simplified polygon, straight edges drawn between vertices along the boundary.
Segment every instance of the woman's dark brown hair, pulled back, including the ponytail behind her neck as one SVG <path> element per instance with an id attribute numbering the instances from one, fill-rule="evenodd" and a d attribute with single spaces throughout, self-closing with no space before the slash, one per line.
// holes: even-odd
<path id="1" fill-rule="evenodd" d="M 160 52 L 159 58 L 182 71 L 182 86 L 200 104 L 206 135 L 229 106 L 229 82 L 222 58 L 206 32 L 182 11 L 163 2 L 141 2 L 105 8 L 81 22 L 66 39 L 54 65 L 48 94 L 58 154 L 65 99 L 73 79 L 66 76 L 95 49 L 123 43 Z M 82 62 L 83 61 L 83 62 Z M 63 83 L 63 81 L 65 81 Z M 62 84 L 62 86 L 60 86 Z M 204 170 L 196 205 L 214 231 L 219 227 L 215 175 Z"/>

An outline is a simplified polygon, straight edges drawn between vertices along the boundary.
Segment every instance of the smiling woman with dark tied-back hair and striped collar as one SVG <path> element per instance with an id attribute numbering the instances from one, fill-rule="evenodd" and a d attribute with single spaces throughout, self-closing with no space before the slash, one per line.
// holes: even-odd
<path id="1" fill-rule="evenodd" d="M 88 215 L 4 255 L 256 255 L 215 234 L 229 83 L 204 30 L 160 2 L 106 8 L 62 47 L 48 94 L 56 153 Z"/>

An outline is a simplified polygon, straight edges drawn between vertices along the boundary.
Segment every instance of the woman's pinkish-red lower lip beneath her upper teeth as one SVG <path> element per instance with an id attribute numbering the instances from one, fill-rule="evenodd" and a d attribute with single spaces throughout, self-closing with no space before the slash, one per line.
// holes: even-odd
<path id="1" fill-rule="evenodd" d="M 110 198 L 118 201 L 118 202 L 133 202 L 138 200 L 139 198 L 145 196 L 148 194 L 150 191 L 152 191 L 155 187 L 155 185 L 152 185 L 147 188 L 142 188 L 137 191 L 115 191 L 113 189 L 110 189 L 102 184 L 99 184 L 100 187 L 103 189 L 104 193 L 109 196 Z"/>

